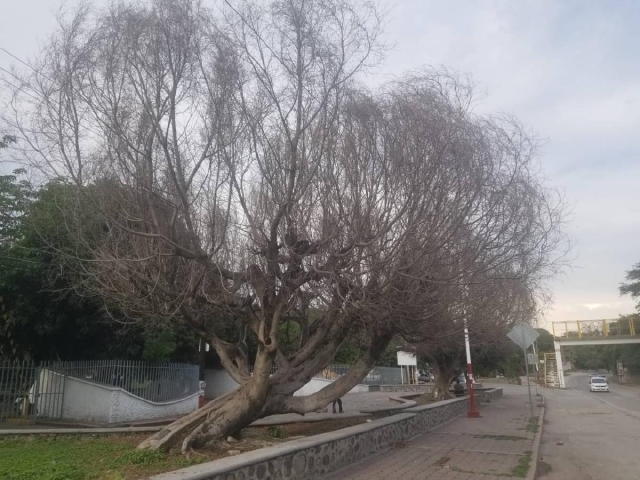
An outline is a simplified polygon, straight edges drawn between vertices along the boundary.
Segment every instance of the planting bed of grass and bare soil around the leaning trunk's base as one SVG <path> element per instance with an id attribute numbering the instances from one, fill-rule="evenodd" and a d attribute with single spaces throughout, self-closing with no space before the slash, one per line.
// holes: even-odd
<path id="1" fill-rule="evenodd" d="M 246 428 L 239 441 L 220 442 L 190 457 L 136 450 L 146 435 L 0 439 L 0 480 L 138 480 L 365 420 L 336 416 L 322 422 Z"/>

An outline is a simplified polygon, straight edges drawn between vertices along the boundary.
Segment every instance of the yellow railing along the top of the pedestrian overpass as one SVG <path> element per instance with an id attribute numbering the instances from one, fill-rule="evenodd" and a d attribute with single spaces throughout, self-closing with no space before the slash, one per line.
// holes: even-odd
<path id="1" fill-rule="evenodd" d="M 553 322 L 551 328 L 556 340 L 634 337 L 640 336 L 640 317 Z"/>

